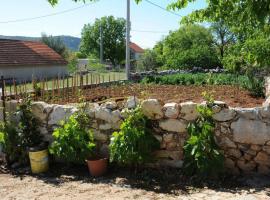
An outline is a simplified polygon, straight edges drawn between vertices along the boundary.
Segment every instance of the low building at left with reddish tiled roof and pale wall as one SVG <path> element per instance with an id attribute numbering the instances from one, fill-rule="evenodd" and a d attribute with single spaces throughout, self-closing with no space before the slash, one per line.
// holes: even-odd
<path id="1" fill-rule="evenodd" d="M 0 39 L 0 75 L 29 81 L 67 75 L 67 62 L 41 42 Z"/>

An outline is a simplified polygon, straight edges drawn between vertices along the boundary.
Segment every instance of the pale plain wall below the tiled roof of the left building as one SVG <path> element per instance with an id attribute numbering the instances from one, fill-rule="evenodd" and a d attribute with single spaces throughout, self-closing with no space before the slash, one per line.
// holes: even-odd
<path id="1" fill-rule="evenodd" d="M 35 78 L 52 78 L 67 75 L 66 65 L 55 66 L 7 66 L 0 67 L 0 75 L 5 78 L 29 81 Z"/>

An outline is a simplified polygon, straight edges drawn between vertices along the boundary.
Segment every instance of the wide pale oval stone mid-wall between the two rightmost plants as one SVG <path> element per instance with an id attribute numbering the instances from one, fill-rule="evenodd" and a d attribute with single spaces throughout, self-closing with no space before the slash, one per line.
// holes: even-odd
<path id="1" fill-rule="evenodd" d="M 160 128 L 169 132 L 184 133 L 186 132 L 187 124 L 184 121 L 177 119 L 166 119 L 159 122 Z"/>

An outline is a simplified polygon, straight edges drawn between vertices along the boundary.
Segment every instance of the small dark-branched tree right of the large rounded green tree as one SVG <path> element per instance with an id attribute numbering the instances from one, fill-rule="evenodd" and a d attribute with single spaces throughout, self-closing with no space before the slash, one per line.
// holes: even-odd
<path id="1" fill-rule="evenodd" d="M 222 60 L 229 45 L 235 42 L 235 35 L 225 26 L 223 21 L 212 23 L 210 30 L 214 37 L 214 45 L 219 52 L 220 60 Z"/>

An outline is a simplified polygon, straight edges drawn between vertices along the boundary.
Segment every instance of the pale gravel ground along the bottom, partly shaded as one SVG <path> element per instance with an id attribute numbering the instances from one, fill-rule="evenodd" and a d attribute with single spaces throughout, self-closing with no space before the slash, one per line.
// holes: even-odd
<path id="1" fill-rule="evenodd" d="M 85 175 L 85 174 L 84 174 Z M 183 187 L 176 182 L 158 182 L 149 177 L 149 182 L 139 182 L 125 176 L 92 179 L 74 175 L 12 175 L 0 174 L 0 199 L 213 199 L 213 200 L 267 200 L 270 199 L 269 177 L 248 178 L 245 186 L 235 187 L 234 180 L 226 186 Z M 157 183 L 158 182 L 158 183 Z M 185 185 L 185 184 L 184 184 Z"/>

